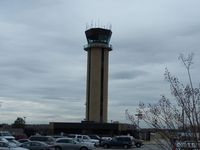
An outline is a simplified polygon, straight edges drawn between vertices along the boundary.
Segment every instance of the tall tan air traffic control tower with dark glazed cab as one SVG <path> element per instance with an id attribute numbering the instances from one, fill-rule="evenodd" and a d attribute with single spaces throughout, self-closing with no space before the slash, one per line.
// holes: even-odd
<path id="1" fill-rule="evenodd" d="M 112 31 L 90 28 L 85 31 L 87 45 L 86 121 L 107 123 L 108 62 Z"/>

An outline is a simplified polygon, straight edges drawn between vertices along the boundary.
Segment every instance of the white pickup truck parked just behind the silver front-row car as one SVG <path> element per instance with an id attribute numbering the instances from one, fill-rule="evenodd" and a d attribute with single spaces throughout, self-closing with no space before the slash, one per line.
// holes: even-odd
<path id="1" fill-rule="evenodd" d="M 99 145 L 99 140 L 91 139 L 88 135 L 69 134 L 69 135 L 67 135 L 67 137 L 74 138 L 75 140 L 77 140 L 79 142 L 93 143 L 95 146 Z"/>

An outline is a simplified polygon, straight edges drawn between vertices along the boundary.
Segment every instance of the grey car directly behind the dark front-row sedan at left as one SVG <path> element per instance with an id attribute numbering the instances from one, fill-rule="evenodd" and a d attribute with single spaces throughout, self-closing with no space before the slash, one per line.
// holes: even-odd
<path id="1" fill-rule="evenodd" d="M 38 136 L 34 135 L 29 138 L 31 141 L 40 141 L 45 142 L 48 145 L 53 145 L 55 143 L 55 139 L 51 136 Z"/>

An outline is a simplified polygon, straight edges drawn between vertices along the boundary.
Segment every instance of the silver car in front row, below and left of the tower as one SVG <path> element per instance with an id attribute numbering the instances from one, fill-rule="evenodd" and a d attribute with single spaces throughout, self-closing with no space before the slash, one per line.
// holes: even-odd
<path id="1" fill-rule="evenodd" d="M 92 150 L 94 145 L 77 142 L 72 138 L 58 138 L 55 143 L 55 150 Z"/>

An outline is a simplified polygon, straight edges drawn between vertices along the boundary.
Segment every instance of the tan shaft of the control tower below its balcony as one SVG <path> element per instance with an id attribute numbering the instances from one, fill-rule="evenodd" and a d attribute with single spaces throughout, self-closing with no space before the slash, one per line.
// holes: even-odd
<path id="1" fill-rule="evenodd" d="M 108 112 L 108 50 L 88 50 L 86 120 L 107 122 Z"/>

